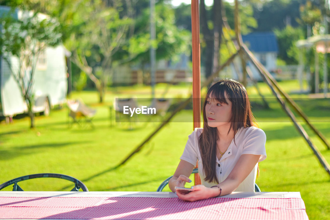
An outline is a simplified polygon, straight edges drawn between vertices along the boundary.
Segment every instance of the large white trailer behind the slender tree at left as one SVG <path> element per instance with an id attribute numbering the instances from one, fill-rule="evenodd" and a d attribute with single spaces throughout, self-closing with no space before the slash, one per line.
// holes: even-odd
<path id="1" fill-rule="evenodd" d="M 0 7 L 0 13 L 8 10 L 8 7 Z M 16 10 L 13 16 L 21 19 L 21 12 Z M 10 56 L 9 60 L 17 73 L 18 58 Z M 53 106 L 66 102 L 67 75 L 65 48 L 62 45 L 54 48 L 47 47 L 41 52 L 33 76 L 32 91 L 35 100 L 35 105 L 32 107 L 33 112 L 43 112 L 48 115 Z M 27 104 L 19 86 L 7 62 L 0 56 L 0 116 L 13 117 L 27 111 Z"/>

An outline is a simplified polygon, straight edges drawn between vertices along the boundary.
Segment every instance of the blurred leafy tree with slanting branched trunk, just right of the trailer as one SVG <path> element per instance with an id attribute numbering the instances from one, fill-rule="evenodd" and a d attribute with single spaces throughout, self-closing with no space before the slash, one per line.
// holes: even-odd
<path id="1" fill-rule="evenodd" d="M 65 41 L 72 52 L 73 62 L 90 78 L 99 93 L 104 95 L 115 63 L 114 54 L 126 43 L 132 18 L 129 13 L 120 15 L 121 1 L 105 2 L 82 0 L 76 4 L 79 13 L 72 14 L 74 30 Z"/>

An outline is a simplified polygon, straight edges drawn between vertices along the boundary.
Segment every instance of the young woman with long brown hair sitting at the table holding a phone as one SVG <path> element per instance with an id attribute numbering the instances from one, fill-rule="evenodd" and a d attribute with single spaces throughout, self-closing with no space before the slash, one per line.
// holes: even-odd
<path id="1" fill-rule="evenodd" d="M 253 192 L 258 162 L 266 159 L 266 135 L 254 127 L 254 117 L 244 86 L 234 80 L 213 84 L 203 106 L 204 127 L 188 136 L 181 161 L 169 187 L 185 201 L 239 192 Z M 202 185 L 183 187 L 198 161 Z"/>

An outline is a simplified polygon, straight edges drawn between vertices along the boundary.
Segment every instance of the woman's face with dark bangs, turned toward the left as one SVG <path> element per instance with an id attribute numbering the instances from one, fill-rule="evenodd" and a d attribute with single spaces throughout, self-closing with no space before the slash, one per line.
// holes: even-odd
<path id="1" fill-rule="evenodd" d="M 208 126 L 216 128 L 219 126 L 230 125 L 231 119 L 231 101 L 228 99 L 225 92 L 225 98 L 228 104 L 219 103 L 212 97 L 212 93 L 207 97 L 205 106 L 205 113 L 207 118 Z"/>

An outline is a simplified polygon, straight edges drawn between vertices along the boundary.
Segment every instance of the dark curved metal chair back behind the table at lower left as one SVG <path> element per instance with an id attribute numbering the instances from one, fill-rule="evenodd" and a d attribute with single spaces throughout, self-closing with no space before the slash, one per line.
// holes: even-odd
<path id="1" fill-rule="evenodd" d="M 79 191 L 79 189 L 82 189 L 82 191 L 88 192 L 87 187 L 85 184 L 82 183 L 82 181 L 68 175 L 64 174 L 59 174 L 59 173 L 37 173 L 37 174 L 31 174 L 31 175 L 26 175 L 26 176 L 20 176 L 15 179 L 9 180 L 7 182 L 4 182 L 0 185 L 0 190 L 3 188 L 14 184 L 13 186 L 13 191 L 24 191 L 20 186 L 18 186 L 18 182 L 23 181 L 23 180 L 28 180 L 28 179 L 35 179 L 35 178 L 43 178 L 43 177 L 52 177 L 52 178 L 60 178 L 60 179 L 65 179 L 69 180 L 71 182 L 75 183 L 75 187 L 71 191 Z"/>

